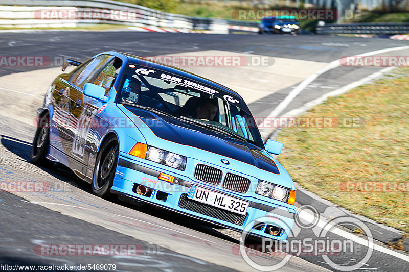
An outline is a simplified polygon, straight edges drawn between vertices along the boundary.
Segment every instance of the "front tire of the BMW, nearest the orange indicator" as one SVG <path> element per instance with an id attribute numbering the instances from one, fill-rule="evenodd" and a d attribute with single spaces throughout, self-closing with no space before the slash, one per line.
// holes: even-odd
<path id="1" fill-rule="evenodd" d="M 109 136 L 98 152 L 92 183 L 93 193 L 104 199 L 112 196 L 109 189 L 112 187 L 117 170 L 118 155 L 118 140 L 115 136 Z"/>

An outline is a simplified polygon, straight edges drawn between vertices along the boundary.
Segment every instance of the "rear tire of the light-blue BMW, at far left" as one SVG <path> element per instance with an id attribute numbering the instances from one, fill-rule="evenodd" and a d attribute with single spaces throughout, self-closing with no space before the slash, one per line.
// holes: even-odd
<path id="1" fill-rule="evenodd" d="M 50 115 L 47 113 L 39 118 L 38 129 L 31 146 L 30 161 L 34 164 L 48 162 L 46 155 L 50 145 Z"/>

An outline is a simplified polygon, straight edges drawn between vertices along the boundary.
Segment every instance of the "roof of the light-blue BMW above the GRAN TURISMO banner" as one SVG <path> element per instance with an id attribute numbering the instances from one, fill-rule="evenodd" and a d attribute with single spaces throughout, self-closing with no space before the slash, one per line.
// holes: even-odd
<path id="1" fill-rule="evenodd" d="M 220 90 L 222 90 L 224 92 L 227 92 L 229 94 L 233 94 L 233 95 L 241 98 L 241 100 L 243 100 L 243 97 L 241 97 L 241 95 L 238 94 L 236 91 L 234 91 L 234 90 L 232 90 L 232 89 L 230 89 L 230 88 L 228 88 L 226 86 L 223 86 L 223 85 L 221 85 L 221 84 L 219 84 L 217 82 L 214 82 L 214 81 L 212 81 L 210 79 L 203 78 L 203 77 L 200 77 L 200 76 L 198 76 L 198 75 L 196 75 L 194 73 L 188 72 L 188 71 L 186 71 L 184 69 L 180 69 L 180 68 L 177 68 L 177 67 L 174 67 L 174 66 L 171 66 L 171 65 L 167 65 L 167 64 L 164 64 L 164 63 L 160 63 L 160 62 L 148 60 L 148 59 L 145 59 L 145 58 L 142 58 L 142 57 L 138 57 L 138 56 L 135 56 L 135 55 L 132 55 L 132 54 L 122 53 L 122 52 L 117 52 L 117 51 L 108 51 L 108 52 L 103 52 L 101 54 L 111 54 L 111 55 L 117 55 L 117 56 L 118 55 L 123 55 L 123 56 L 128 58 L 129 62 L 132 62 L 134 64 L 139 64 L 141 66 L 149 66 L 149 64 L 152 64 L 152 67 L 161 69 L 161 70 L 163 70 L 165 72 L 174 73 L 175 75 L 179 75 L 181 77 L 186 77 L 186 78 L 190 78 L 192 80 L 195 80 L 195 81 L 198 81 L 198 82 L 201 82 L 201 83 L 205 83 L 205 84 L 207 84 L 209 86 L 220 89 Z M 100 54 L 98 54 L 98 55 L 100 55 Z"/>

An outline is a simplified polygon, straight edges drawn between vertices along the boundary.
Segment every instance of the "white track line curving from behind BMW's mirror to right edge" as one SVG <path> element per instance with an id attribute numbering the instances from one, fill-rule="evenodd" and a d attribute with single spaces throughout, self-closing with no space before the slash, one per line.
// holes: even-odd
<path id="1" fill-rule="evenodd" d="M 397 50 L 404 50 L 404 49 L 409 49 L 409 46 L 399 46 L 399 47 L 392 47 L 392 48 L 385 48 L 381 50 L 375 50 L 367 53 L 362 53 L 359 55 L 355 56 L 370 56 L 370 55 L 376 55 L 376 54 L 382 54 L 386 52 L 391 52 L 391 51 L 397 51 Z M 316 71 L 313 73 L 313 75 L 309 76 L 305 80 L 303 80 L 296 88 L 294 88 L 290 93 L 287 95 L 287 97 L 284 98 L 284 100 L 268 115 L 267 118 L 263 121 L 263 128 L 267 127 L 267 122 L 270 120 L 272 117 L 278 117 L 279 114 L 291 103 L 291 101 L 296 98 L 296 96 L 305 89 L 311 82 L 313 82 L 317 77 L 321 76 L 323 73 L 332 70 L 336 67 L 339 67 L 340 61 L 334 60 L 331 61 L 327 66 L 321 68 L 320 70 Z M 268 135 L 267 135 L 268 136 Z"/>

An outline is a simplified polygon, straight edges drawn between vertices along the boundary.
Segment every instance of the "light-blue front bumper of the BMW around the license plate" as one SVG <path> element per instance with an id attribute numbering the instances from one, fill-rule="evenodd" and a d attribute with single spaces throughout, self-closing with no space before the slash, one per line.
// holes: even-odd
<path id="1" fill-rule="evenodd" d="M 170 184 L 159 180 L 158 176 L 161 172 L 174 176 L 175 182 Z M 150 193 L 147 195 L 136 193 L 135 188 L 138 185 L 150 188 Z M 258 225 L 257 229 L 251 231 L 252 235 L 258 237 L 286 240 L 292 229 L 296 216 L 294 210 L 262 200 L 256 202 L 253 197 L 241 197 L 242 200 L 249 202 L 249 206 L 246 215 L 240 215 L 188 199 L 187 194 L 191 185 L 206 186 L 209 189 L 209 184 L 152 166 L 145 160 L 131 160 L 120 156 L 111 192 L 125 196 L 128 200 L 147 202 L 239 232 L 243 231 L 247 224 Z M 212 190 L 219 191 L 216 188 Z M 237 198 L 228 191 L 219 192 Z M 258 224 L 260 221 L 257 219 L 266 216 L 268 221 L 265 224 Z M 280 234 L 270 235 L 267 230 L 270 226 L 281 228 Z"/>

